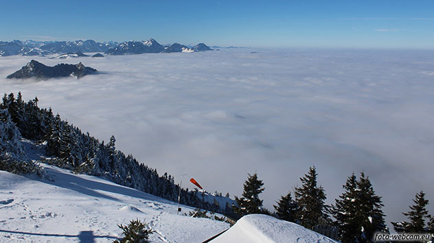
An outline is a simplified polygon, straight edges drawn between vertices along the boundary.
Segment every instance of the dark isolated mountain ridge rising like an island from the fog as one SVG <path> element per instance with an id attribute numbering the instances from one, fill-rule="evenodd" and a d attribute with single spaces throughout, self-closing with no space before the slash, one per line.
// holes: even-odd
<path id="1" fill-rule="evenodd" d="M 8 79 L 28 79 L 36 77 L 37 79 L 49 79 L 52 77 L 83 77 L 89 74 L 95 74 L 97 70 L 84 66 L 81 62 L 79 64 L 57 64 L 56 66 L 45 66 L 41 62 L 35 60 L 27 63 L 23 68 L 15 73 L 9 75 Z"/>

